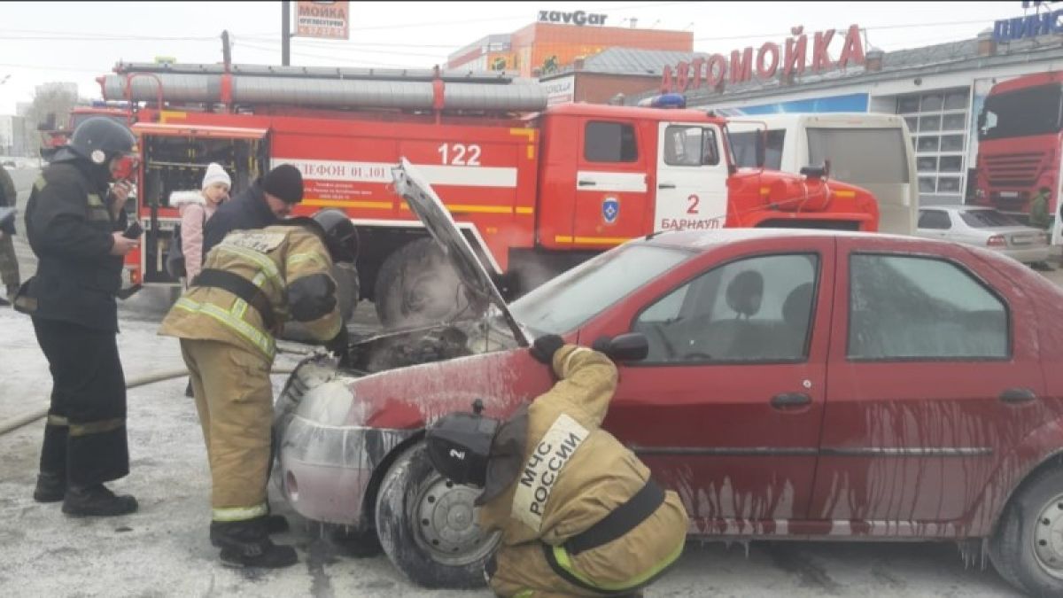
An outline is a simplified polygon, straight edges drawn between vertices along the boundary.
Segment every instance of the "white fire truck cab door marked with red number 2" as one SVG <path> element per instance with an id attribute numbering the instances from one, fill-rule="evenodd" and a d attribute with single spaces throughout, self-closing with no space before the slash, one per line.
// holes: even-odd
<path id="1" fill-rule="evenodd" d="M 654 231 L 723 228 L 728 172 L 721 155 L 716 127 L 659 124 Z"/>

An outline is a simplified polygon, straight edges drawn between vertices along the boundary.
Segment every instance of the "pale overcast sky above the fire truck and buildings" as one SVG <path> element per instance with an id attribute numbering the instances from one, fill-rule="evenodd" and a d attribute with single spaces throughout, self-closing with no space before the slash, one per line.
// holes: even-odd
<path id="1" fill-rule="evenodd" d="M 294 2 L 292 2 L 294 5 Z M 347 41 L 294 38 L 291 64 L 427 68 L 491 33 L 533 22 L 540 10 L 608 15 L 607 24 L 694 32 L 694 50 L 729 53 L 805 32 L 866 29 L 883 50 L 973 37 L 993 21 L 1024 14 L 1010 2 L 361 2 L 352 1 Z M 0 2 L 0 114 L 30 101 L 36 85 L 73 81 L 98 98 L 95 79 L 118 61 L 233 61 L 281 64 L 281 2 Z M 838 46 L 834 46 L 837 48 Z M 811 51 L 811 44 L 810 44 Z M 837 52 L 837 50 L 834 50 Z M 836 56 L 837 57 L 837 56 Z"/>

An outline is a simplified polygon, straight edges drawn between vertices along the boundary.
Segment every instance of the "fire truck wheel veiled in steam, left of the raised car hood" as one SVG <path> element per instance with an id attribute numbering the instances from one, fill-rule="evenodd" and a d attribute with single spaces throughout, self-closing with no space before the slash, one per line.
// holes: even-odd
<path id="1" fill-rule="evenodd" d="M 468 309 L 454 266 L 431 238 L 407 243 L 376 275 L 376 315 L 384 328 L 435 323 Z"/>

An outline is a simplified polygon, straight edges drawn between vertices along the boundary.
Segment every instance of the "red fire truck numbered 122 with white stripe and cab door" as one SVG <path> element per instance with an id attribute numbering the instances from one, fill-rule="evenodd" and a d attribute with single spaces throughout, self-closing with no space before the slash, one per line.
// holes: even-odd
<path id="1" fill-rule="evenodd" d="M 103 96 L 134 106 L 141 155 L 141 249 L 134 283 L 165 270 L 178 212 L 209 162 L 234 193 L 289 163 L 304 178 L 297 213 L 347 212 L 358 228 L 360 296 L 386 326 L 468 308 L 458 280 L 390 188 L 400 157 L 418 165 L 511 296 L 632 237 L 721 227 L 875 231 L 866 190 L 739 169 L 723 118 L 695 110 L 546 107 L 534 81 L 438 70 L 119 64 Z"/>

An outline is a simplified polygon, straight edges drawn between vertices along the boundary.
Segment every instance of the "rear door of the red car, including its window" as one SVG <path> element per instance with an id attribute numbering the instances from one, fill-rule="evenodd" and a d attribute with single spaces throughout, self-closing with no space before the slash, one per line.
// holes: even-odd
<path id="1" fill-rule="evenodd" d="M 927 524 L 971 512 L 1044 395 L 1032 305 L 961 246 L 841 237 L 838 271 L 811 515 L 962 535 Z"/>

